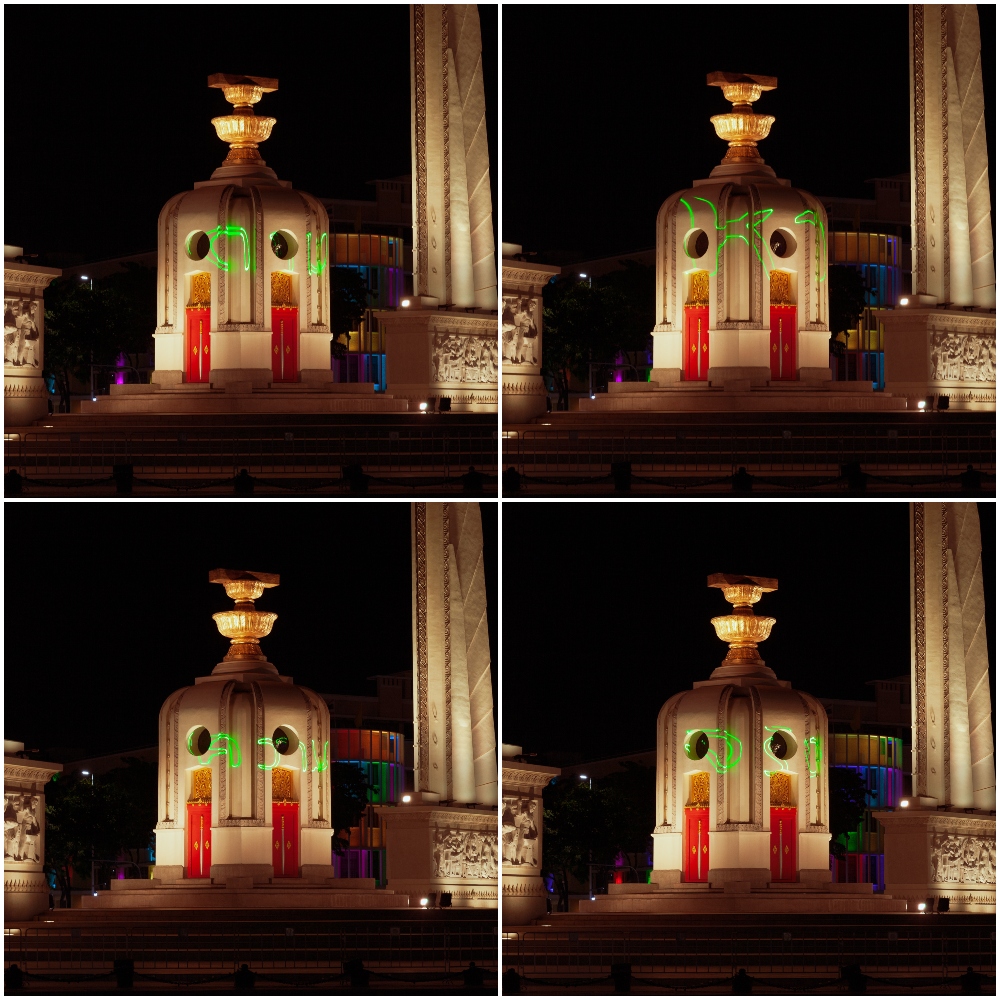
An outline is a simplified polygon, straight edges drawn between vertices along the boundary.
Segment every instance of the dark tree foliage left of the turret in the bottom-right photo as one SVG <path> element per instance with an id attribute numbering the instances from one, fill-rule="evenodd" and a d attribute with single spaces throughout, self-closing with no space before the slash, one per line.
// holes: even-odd
<path id="1" fill-rule="evenodd" d="M 542 863 L 561 912 L 569 909 L 570 879 L 586 884 L 591 864 L 611 867 L 623 855 L 644 867 L 656 825 L 655 785 L 655 768 L 626 762 L 592 784 L 562 778 L 545 789 Z"/>

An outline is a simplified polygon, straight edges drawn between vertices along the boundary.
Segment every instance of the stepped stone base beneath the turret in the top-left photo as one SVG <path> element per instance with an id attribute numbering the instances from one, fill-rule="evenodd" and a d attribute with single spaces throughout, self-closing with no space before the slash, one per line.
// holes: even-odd
<path id="1" fill-rule="evenodd" d="M 254 370 L 213 372 L 211 382 L 174 380 L 180 372 L 154 372 L 148 385 L 113 385 L 111 394 L 75 404 L 82 414 L 117 413 L 406 413 L 406 399 L 375 392 L 371 382 L 306 379 L 270 383 Z M 308 373 L 303 372 L 303 376 Z M 321 373 L 327 376 L 330 372 Z M 157 381 L 161 378 L 162 381 Z"/>

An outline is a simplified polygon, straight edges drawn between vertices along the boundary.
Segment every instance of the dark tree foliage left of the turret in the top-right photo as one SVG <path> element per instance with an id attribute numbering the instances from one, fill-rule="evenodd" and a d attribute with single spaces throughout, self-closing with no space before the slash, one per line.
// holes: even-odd
<path id="1" fill-rule="evenodd" d="M 613 364 L 619 355 L 636 364 L 648 350 L 654 318 L 653 268 L 622 261 L 591 284 L 561 278 L 545 288 L 542 374 L 559 393 L 558 409 L 569 408 L 572 378 L 585 381 L 590 363 Z"/>

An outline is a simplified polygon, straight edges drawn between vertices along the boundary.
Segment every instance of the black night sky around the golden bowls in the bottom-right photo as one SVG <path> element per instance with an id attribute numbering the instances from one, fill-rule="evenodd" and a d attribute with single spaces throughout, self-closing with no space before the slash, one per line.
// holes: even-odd
<path id="1" fill-rule="evenodd" d="M 794 687 L 874 700 L 865 681 L 909 673 L 905 503 L 503 507 L 502 738 L 526 752 L 654 747 L 662 704 L 726 654 L 710 573 L 777 577 L 760 649 Z M 979 507 L 995 667 L 995 506 Z"/>

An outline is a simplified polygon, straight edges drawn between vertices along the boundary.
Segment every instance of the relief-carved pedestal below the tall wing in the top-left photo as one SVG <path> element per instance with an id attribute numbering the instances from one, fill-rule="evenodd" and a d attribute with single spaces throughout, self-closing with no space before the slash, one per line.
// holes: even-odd
<path id="1" fill-rule="evenodd" d="M 385 335 L 386 383 L 411 411 L 421 403 L 453 412 L 496 413 L 498 407 L 497 314 L 427 304 L 379 312 Z"/>

